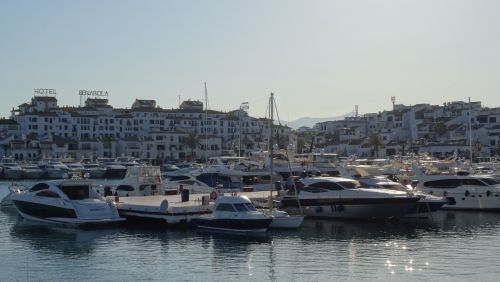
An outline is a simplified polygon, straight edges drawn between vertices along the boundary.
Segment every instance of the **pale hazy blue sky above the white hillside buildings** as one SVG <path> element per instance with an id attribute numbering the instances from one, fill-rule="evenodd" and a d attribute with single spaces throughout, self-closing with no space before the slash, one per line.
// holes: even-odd
<path id="1" fill-rule="evenodd" d="M 500 106 L 500 1 L 0 0 L 0 116 L 55 88 L 282 120 L 402 104 Z"/>

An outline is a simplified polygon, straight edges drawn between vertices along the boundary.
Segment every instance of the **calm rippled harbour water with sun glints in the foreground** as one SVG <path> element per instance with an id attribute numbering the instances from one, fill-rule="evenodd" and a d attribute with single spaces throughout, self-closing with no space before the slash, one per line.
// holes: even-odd
<path id="1" fill-rule="evenodd" d="M 7 194 L 0 184 L 0 197 Z M 263 237 L 74 230 L 0 212 L 0 281 L 498 281 L 500 214 L 433 221 L 306 220 Z"/>

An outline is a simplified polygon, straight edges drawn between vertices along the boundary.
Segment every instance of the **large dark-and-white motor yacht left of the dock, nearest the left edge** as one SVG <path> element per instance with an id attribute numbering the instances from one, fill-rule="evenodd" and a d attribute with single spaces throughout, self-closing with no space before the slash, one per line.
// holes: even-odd
<path id="1" fill-rule="evenodd" d="M 88 180 L 49 180 L 30 189 L 11 188 L 10 198 L 29 221 L 72 227 L 94 227 L 125 220 L 115 203 L 92 189 Z"/>

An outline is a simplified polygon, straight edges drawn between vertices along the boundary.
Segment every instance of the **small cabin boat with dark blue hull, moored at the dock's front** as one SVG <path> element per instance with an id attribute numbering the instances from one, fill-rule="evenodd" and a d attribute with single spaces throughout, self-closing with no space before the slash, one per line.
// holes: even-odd
<path id="1" fill-rule="evenodd" d="M 192 219 L 200 229 L 238 233 L 266 232 L 271 221 L 246 196 L 219 196 L 211 214 Z"/>

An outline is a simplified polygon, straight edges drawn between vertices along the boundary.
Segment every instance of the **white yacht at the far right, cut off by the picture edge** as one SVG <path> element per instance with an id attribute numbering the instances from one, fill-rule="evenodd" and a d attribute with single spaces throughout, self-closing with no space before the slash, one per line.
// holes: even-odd
<path id="1" fill-rule="evenodd" d="M 500 183 L 475 175 L 420 176 L 417 191 L 445 197 L 446 209 L 500 211 Z"/>

